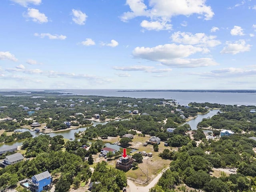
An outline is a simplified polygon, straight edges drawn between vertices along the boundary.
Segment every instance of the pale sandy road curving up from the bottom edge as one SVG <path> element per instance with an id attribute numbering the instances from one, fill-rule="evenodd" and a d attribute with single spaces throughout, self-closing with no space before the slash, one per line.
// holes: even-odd
<path id="1" fill-rule="evenodd" d="M 162 170 L 160 174 L 158 174 L 147 186 L 138 186 L 136 185 L 132 180 L 127 180 L 127 192 L 148 192 L 150 188 L 154 187 L 160 177 L 162 176 L 162 173 L 166 171 L 168 168 Z"/>

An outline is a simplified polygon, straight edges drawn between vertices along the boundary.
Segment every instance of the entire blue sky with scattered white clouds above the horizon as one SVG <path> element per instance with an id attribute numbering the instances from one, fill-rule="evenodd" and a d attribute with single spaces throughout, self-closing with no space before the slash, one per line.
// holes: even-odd
<path id="1" fill-rule="evenodd" d="M 256 0 L 1 0 L 0 88 L 255 89 Z"/>

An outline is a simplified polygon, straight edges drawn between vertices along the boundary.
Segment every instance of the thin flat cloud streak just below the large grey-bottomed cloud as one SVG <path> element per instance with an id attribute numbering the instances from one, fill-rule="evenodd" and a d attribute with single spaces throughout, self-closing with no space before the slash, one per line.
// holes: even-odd
<path id="1" fill-rule="evenodd" d="M 148 73 L 165 73 L 170 72 L 172 69 L 156 69 L 153 66 L 145 66 L 145 65 L 134 65 L 134 66 L 124 66 L 124 67 L 117 67 L 114 66 L 113 69 L 120 70 L 120 71 L 144 71 Z"/>

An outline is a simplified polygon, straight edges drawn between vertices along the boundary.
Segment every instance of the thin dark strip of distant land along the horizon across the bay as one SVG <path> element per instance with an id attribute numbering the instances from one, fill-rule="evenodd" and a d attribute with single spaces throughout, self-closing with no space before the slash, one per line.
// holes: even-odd
<path id="1" fill-rule="evenodd" d="M 256 93 L 256 90 L 119 90 L 117 92 L 206 92 L 206 93 Z"/>

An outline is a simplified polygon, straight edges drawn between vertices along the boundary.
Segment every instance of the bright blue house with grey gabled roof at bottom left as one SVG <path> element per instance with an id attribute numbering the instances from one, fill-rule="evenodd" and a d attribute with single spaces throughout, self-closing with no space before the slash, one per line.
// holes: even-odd
<path id="1" fill-rule="evenodd" d="M 48 190 L 52 183 L 52 176 L 48 171 L 34 175 L 29 180 L 28 185 L 32 192 L 41 192 L 42 190 Z"/>

